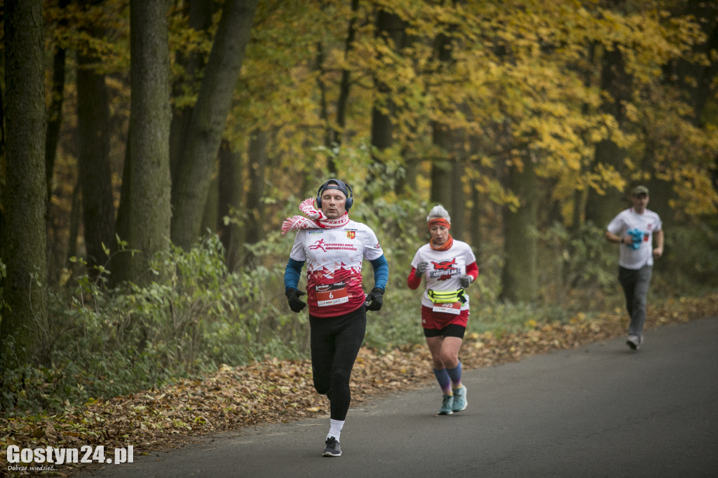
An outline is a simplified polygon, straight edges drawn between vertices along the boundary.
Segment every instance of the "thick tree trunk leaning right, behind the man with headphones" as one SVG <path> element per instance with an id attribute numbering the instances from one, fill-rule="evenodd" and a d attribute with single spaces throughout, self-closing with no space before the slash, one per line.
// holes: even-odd
<path id="1" fill-rule="evenodd" d="M 202 212 L 258 0 L 228 0 L 172 183 L 172 240 L 190 248 Z"/>

